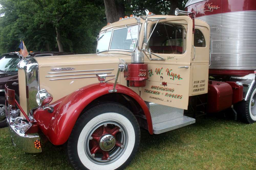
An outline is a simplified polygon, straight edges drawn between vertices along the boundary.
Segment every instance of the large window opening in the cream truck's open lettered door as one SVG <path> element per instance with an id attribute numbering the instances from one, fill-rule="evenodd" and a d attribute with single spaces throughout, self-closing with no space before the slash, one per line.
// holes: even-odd
<path id="1" fill-rule="evenodd" d="M 152 29 L 155 25 L 152 26 Z M 186 32 L 182 25 L 158 23 L 150 38 L 149 48 L 152 53 L 183 54 L 186 45 Z"/>

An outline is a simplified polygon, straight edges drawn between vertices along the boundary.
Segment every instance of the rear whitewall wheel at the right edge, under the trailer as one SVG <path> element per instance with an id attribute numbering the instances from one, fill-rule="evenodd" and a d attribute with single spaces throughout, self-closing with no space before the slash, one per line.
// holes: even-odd
<path id="1" fill-rule="evenodd" d="M 256 84 L 253 85 L 247 101 L 237 105 L 238 114 L 246 123 L 256 122 Z"/>

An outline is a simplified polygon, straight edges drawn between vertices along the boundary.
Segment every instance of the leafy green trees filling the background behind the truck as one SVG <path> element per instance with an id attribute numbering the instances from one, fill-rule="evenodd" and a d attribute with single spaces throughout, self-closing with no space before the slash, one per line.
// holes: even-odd
<path id="1" fill-rule="evenodd" d="M 116 15 L 129 16 L 146 8 L 166 15 L 187 0 L 0 0 L 0 54 L 18 51 L 20 40 L 28 51 L 95 53 L 95 38 L 107 23 L 105 1 L 113 2 Z"/>

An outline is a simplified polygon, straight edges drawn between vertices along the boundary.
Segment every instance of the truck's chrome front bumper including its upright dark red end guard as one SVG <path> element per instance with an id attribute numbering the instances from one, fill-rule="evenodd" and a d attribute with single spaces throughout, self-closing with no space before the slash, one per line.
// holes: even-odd
<path id="1" fill-rule="evenodd" d="M 6 118 L 8 123 L 8 130 L 13 142 L 13 145 L 24 152 L 38 153 L 42 152 L 40 137 L 38 134 L 26 134 L 27 130 L 33 123 L 27 121 L 23 117 L 19 117 L 20 110 L 14 109 L 16 105 L 22 109 L 15 100 L 14 90 L 8 89 L 5 85 L 5 108 Z M 24 112 L 24 111 L 22 111 Z M 40 143 L 40 144 L 39 144 Z M 40 145 L 40 146 L 39 146 Z"/>

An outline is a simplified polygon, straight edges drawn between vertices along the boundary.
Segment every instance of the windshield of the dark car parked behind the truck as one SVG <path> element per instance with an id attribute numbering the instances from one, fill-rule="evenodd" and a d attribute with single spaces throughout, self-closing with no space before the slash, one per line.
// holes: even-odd
<path id="1" fill-rule="evenodd" d="M 0 60 L 0 70 L 4 72 L 17 72 L 17 64 L 20 61 L 20 58 L 15 56 L 4 56 Z"/>

